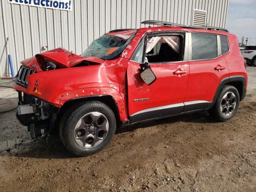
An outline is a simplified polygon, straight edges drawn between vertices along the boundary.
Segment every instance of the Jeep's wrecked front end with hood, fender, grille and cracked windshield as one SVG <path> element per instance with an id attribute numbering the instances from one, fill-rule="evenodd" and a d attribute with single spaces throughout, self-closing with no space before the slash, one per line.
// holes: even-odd
<path id="1" fill-rule="evenodd" d="M 21 62 L 13 86 L 19 93 L 16 116 L 28 126 L 32 138 L 49 135 L 52 128 L 58 128 L 62 114 L 74 100 L 108 96 L 116 102 L 114 108 L 120 112 L 120 120 L 128 120 L 125 49 L 136 30 L 120 33 L 105 34 L 81 55 L 56 48 Z M 125 57 L 120 56 L 122 52 L 126 52 Z"/>

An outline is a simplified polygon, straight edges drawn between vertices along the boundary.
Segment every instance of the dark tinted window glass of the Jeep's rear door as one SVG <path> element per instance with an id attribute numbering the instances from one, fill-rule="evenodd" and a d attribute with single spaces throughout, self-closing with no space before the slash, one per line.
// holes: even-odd
<path id="1" fill-rule="evenodd" d="M 217 57 L 217 36 L 192 33 L 192 60 Z"/>

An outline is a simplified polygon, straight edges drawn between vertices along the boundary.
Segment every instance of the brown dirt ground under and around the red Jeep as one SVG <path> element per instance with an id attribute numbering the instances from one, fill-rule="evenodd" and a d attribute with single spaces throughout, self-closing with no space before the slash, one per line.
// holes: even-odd
<path id="1" fill-rule="evenodd" d="M 44 137 L 30 139 L 16 110 L 0 114 L 0 191 L 256 191 L 256 89 L 249 87 L 228 122 L 190 114 L 138 124 L 84 158 L 72 156 L 58 136 L 48 146 Z M 7 89 L 0 87 L 0 98 L 15 93 Z M 16 100 L 1 99 L 0 111 Z"/>

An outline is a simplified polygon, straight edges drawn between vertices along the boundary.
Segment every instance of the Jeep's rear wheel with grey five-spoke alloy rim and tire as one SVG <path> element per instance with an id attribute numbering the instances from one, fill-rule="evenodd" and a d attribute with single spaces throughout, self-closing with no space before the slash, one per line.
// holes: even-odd
<path id="1" fill-rule="evenodd" d="M 224 86 L 210 114 L 218 121 L 230 120 L 239 108 L 240 96 L 234 86 Z"/>

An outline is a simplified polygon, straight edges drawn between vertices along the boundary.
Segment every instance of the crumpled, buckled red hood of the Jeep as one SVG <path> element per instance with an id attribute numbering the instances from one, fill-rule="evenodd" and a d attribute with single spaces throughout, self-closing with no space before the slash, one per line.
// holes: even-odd
<path id="1" fill-rule="evenodd" d="M 92 62 L 96 64 L 102 64 L 104 60 L 96 57 L 82 57 L 64 48 L 56 48 L 36 56 L 26 59 L 21 62 L 22 65 L 28 66 L 36 71 L 46 70 L 46 60 L 53 62 L 59 68 L 70 68 L 82 62 Z"/>

